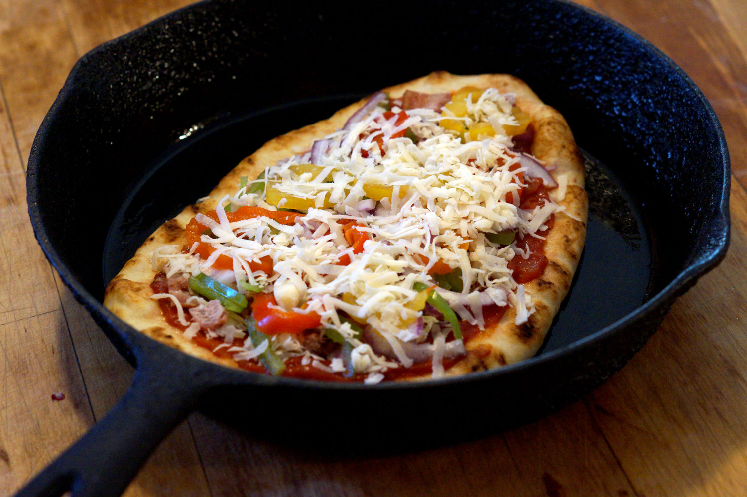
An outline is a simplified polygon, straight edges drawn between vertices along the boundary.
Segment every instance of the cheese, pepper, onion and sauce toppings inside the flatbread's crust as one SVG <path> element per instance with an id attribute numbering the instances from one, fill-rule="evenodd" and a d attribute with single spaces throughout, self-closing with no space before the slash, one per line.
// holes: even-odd
<path id="1" fill-rule="evenodd" d="M 190 275 L 212 299 L 193 320 L 271 374 L 376 383 L 427 361 L 439 377 L 465 353 L 462 327 L 497 315 L 485 309 L 513 306 L 517 324 L 533 312 L 522 284 L 544 271 L 560 208 L 553 177 L 514 148 L 529 121 L 495 88 L 376 93 L 309 152 L 197 214 L 196 265 L 167 250 L 154 264 Z"/>

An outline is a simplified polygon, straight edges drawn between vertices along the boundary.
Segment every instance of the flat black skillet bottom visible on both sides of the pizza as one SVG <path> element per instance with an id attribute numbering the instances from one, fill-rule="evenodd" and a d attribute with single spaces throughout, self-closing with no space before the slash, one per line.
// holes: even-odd
<path id="1" fill-rule="evenodd" d="M 351 95 L 303 100 L 185 129 L 145 176 L 123 189 L 125 197 L 106 236 L 103 284 L 164 220 L 208 194 L 264 142 L 329 117 L 355 100 Z M 589 193 L 586 247 L 544 351 L 589 336 L 641 306 L 653 277 L 651 244 L 639 206 L 609 168 L 588 153 L 584 157 Z"/>

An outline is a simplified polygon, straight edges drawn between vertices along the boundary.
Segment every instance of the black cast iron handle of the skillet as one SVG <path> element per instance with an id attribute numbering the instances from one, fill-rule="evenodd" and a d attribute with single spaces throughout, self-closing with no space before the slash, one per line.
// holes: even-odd
<path id="1" fill-rule="evenodd" d="M 58 497 L 68 490 L 72 497 L 120 496 L 158 443 L 196 406 L 205 386 L 195 379 L 168 365 L 138 365 L 114 408 L 16 497 Z"/>

